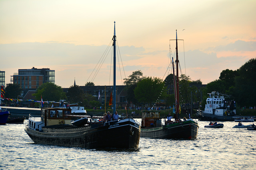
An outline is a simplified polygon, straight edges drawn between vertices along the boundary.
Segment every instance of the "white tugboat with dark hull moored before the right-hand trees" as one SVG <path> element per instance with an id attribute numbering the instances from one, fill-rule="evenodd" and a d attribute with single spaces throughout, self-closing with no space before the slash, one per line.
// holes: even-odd
<path id="1" fill-rule="evenodd" d="M 227 101 L 224 97 L 230 96 L 220 94 L 218 92 L 208 93 L 204 111 L 198 111 L 199 120 L 202 121 L 234 121 L 236 116 L 236 102 L 234 100 Z"/>

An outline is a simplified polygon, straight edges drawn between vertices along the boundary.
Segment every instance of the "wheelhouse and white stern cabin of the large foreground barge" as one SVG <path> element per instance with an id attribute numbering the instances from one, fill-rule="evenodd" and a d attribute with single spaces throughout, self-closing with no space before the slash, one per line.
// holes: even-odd
<path id="1" fill-rule="evenodd" d="M 70 114 L 70 108 L 45 107 L 41 109 L 41 117 L 32 117 L 30 115 L 28 127 L 33 130 L 41 131 L 42 127 L 49 125 L 72 125 L 71 117 L 65 116 Z"/>

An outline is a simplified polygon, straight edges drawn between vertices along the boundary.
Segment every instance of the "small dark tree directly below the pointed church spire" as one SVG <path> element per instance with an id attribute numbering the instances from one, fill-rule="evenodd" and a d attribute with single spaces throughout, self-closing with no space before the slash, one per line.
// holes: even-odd
<path id="1" fill-rule="evenodd" d="M 85 99 L 84 90 L 78 85 L 70 86 L 66 95 L 70 103 L 83 102 Z"/>

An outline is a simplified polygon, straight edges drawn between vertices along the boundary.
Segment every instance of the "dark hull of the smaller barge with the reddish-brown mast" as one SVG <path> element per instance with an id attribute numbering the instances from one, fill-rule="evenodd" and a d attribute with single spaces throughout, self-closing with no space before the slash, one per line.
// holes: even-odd
<path id="1" fill-rule="evenodd" d="M 198 123 L 194 121 L 183 121 L 161 127 L 141 129 L 140 137 L 157 139 L 196 139 L 198 128 Z"/>

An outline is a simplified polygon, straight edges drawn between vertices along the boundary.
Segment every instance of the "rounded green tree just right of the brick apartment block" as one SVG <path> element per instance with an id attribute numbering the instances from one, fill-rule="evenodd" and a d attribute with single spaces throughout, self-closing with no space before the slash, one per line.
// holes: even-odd
<path id="1" fill-rule="evenodd" d="M 66 98 L 62 87 L 57 86 L 51 82 L 46 82 L 36 89 L 36 93 L 33 94 L 36 100 L 41 100 L 41 96 L 44 101 L 59 101 Z"/>

